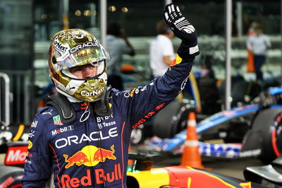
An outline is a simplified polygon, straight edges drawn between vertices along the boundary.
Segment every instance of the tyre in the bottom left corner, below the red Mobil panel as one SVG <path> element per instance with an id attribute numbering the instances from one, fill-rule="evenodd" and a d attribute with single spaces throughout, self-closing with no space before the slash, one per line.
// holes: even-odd
<path id="1" fill-rule="evenodd" d="M 0 187 L 22 187 L 23 168 L 0 165 Z"/>

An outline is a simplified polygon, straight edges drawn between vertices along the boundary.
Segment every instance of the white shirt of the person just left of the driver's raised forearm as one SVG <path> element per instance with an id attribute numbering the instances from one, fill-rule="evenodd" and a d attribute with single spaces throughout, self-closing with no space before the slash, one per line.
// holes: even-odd
<path id="1" fill-rule="evenodd" d="M 164 63 L 164 56 L 173 59 L 173 45 L 168 37 L 157 35 L 149 47 L 150 66 L 154 77 L 163 76 L 168 69 L 168 65 Z"/>

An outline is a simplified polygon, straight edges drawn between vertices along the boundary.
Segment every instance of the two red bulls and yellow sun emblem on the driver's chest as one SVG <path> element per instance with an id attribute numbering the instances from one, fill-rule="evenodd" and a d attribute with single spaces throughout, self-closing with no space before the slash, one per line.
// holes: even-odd
<path id="1" fill-rule="evenodd" d="M 68 163 L 65 168 L 70 168 L 73 165 L 86 165 L 91 167 L 100 162 L 104 163 L 106 159 L 116 160 L 114 152 L 114 145 L 111 146 L 111 150 L 97 148 L 96 146 L 85 146 L 71 157 L 68 157 L 66 154 L 63 155 L 65 162 Z"/>

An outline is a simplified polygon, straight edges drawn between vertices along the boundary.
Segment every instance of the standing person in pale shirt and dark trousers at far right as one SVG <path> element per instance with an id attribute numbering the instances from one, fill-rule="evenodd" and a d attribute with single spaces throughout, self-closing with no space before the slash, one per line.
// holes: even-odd
<path id="1" fill-rule="evenodd" d="M 255 35 L 247 38 L 247 49 L 254 54 L 255 74 L 257 81 L 263 81 L 262 66 L 266 61 L 266 49 L 271 47 L 271 42 L 267 35 L 264 35 L 260 25 L 255 28 Z"/>

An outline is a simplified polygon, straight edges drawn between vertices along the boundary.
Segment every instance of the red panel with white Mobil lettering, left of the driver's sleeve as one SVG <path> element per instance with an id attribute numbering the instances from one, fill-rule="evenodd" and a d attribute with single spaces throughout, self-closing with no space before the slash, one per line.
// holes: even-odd
<path id="1" fill-rule="evenodd" d="M 27 146 L 9 147 L 5 158 L 5 164 L 6 165 L 25 164 L 26 155 L 27 155 Z"/>

